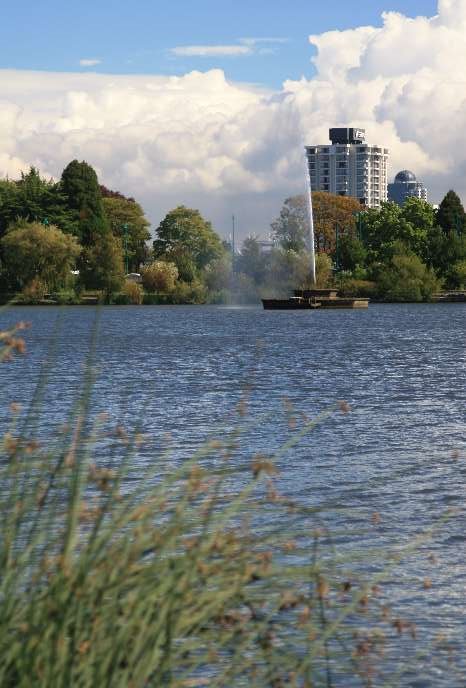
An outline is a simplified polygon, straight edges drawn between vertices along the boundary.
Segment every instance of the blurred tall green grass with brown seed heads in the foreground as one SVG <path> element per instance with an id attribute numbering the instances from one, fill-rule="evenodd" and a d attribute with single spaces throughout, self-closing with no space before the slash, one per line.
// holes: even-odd
<path id="1" fill-rule="evenodd" d="M 23 351 L 16 339 L 0 337 L 7 357 Z M 325 525 L 338 505 L 298 504 L 276 485 L 280 458 L 347 404 L 247 463 L 238 448 L 260 421 L 241 406 L 237 429 L 181 466 L 163 471 L 169 456 L 154 457 L 136 474 L 140 429 L 94 419 L 91 389 L 89 372 L 59 442 L 38 441 L 31 416 L 11 409 L 0 686 L 402 685 L 384 648 L 415 647 L 416 629 L 393 616 L 383 586 L 433 533 L 396 554 L 339 550 Z"/>

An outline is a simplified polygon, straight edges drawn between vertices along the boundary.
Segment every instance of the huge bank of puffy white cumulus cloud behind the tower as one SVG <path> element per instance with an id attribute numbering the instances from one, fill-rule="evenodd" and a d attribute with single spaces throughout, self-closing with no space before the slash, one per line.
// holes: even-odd
<path id="1" fill-rule="evenodd" d="M 466 0 L 440 0 L 433 17 L 388 12 L 380 27 L 313 35 L 315 76 L 275 91 L 217 69 L 3 70 L 0 175 L 33 164 L 59 176 L 85 159 L 107 186 L 138 198 L 154 225 L 185 203 L 224 233 L 234 212 L 243 234 L 265 234 L 286 195 L 303 189 L 303 145 L 355 125 L 390 148 L 392 175 L 412 169 L 433 201 L 449 188 L 466 200 L 465 29 Z"/>

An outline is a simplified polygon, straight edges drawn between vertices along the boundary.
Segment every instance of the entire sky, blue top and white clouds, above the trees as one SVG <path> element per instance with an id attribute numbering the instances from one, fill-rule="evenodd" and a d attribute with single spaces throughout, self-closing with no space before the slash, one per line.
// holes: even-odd
<path id="1" fill-rule="evenodd" d="M 466 0 L 24 0 L 2 8 L 0 176 L 73 158 L 155 228 L 179 204 L 265 236 L 303 145 L 365 127 L 466 200 Z"/>

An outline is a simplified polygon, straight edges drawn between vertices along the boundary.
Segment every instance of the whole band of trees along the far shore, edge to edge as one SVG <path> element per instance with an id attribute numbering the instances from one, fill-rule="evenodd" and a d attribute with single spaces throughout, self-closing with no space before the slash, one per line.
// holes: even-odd
<path id="1" fill-rule="evenodd" d="M 323 192 L 313 208 L 317 286 L 391 301 L 465 288 L 466 214 L 454 191 L 438 210 L 416 198 L 366 210 Z M 0 292 L 27 302 L 98 290 L 117 303 L 254 303 L 310 286 L 304 196 L 285 200 L 265 246 L 251 234 L 235 255 L 198 210 L 171 210 L 152 244 L 149 226 L 135 199 L 99 184 L 86 162 L 70 162 L 58 181 L 34 167 L 0 180 Z"/>

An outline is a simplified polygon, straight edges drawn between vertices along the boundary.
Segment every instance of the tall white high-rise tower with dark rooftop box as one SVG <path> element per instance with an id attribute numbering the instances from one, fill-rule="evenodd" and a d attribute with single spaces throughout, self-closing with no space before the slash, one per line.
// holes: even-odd
<path id="1" fill-rule="evenodd" d="M 364 129 L 330 129 L 331 144 L 306 146 L 311 188 L 352 196 L 368 208 L 387 200 L 388 149 L 366 143 Z"/>

